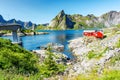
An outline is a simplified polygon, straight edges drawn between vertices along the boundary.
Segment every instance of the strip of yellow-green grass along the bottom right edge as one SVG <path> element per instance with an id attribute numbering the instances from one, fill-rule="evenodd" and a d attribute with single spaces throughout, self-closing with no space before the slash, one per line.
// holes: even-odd
<path id="1" fill-rule="evenodd" d="M 65 80 L 120 80 L 120 70 L 104 70 L 103 74 L 97 73 L 80 74 L 76 77 L 66 78 Z"/>

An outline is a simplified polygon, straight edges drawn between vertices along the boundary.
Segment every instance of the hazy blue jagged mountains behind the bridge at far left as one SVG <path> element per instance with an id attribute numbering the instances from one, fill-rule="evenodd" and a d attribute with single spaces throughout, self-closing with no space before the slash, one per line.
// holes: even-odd
<path id="1" fill-rule="evenodd" d="M 31 21 L 24 22 L 16 19 L 10 19 L 7 21 L 2 17 L 2 15 L 0 15 L 0 24 L 12 24 L 12 23 L 20 24 L 22 28 L 25 28 L 25 29 L 32 29 L 32 27 L 36 26 L 36 24 L 32 23 Z"/>

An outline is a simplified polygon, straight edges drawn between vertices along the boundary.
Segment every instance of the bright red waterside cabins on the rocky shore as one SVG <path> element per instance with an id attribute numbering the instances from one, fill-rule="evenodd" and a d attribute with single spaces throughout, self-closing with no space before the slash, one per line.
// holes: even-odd
<path id="1" fill-rule="evenodd" d="M 104 34 L 102 30 L 84 30 L 84 36 L 94 36 L 96 38 L 103 38 Z"/>

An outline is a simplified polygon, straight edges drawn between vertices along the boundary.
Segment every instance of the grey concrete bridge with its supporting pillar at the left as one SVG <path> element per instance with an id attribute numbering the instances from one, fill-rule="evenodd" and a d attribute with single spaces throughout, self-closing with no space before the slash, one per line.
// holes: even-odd
<path id="1" fill-rule="evenodd" d="M 11 30 L 13 36 L 13 43 L 21 43 L 18 39 L 17 31 L 21 29 L 19 24 L 0 24 L 0 30 Z"/>

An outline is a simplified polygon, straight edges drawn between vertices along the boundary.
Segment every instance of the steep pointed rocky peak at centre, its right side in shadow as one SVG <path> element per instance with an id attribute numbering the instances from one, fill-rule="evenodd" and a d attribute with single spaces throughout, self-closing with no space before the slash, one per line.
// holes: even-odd
<path id="1" fill-rule="evenodd" d="M 66 15 L 62 10 L 49 24 L 50 27 L 56 29 L 73 28 L 74 22 L 72 22 L 69 15 Z"/>

